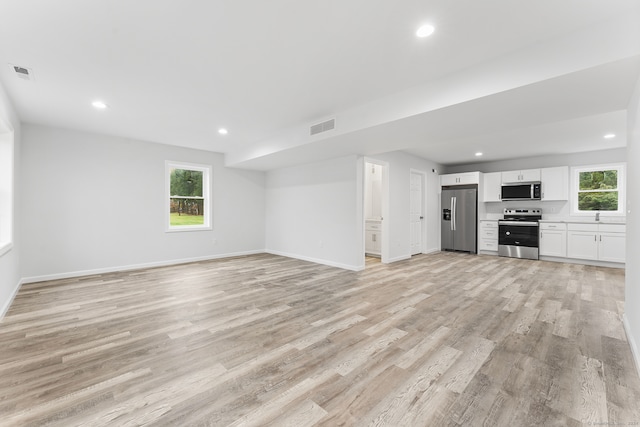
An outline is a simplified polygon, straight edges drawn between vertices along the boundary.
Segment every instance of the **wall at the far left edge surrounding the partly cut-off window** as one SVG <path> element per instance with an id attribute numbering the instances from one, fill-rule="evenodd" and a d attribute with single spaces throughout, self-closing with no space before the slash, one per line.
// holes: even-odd
<path id="1" fill-rule="evenodd" d="M 20 120 L 11 104 L 9 96 L 4 91 L 4 87 L 0 84 L 0 117 L 2 120 L 13 127 L 14 146 L 13 146 L 13 164 L 14 164 L 14 190 L 20 182 Z M 21 221 L 21 212 L 19 210 L 20 194 L 14 191 L 13 205 L 13 248 L 0 256 L 0 319 L 9 309 L 9 305 L 13 297 L 20 287 L 20 259 L 21 259 L 21 236 L 18 232 Z"/>

